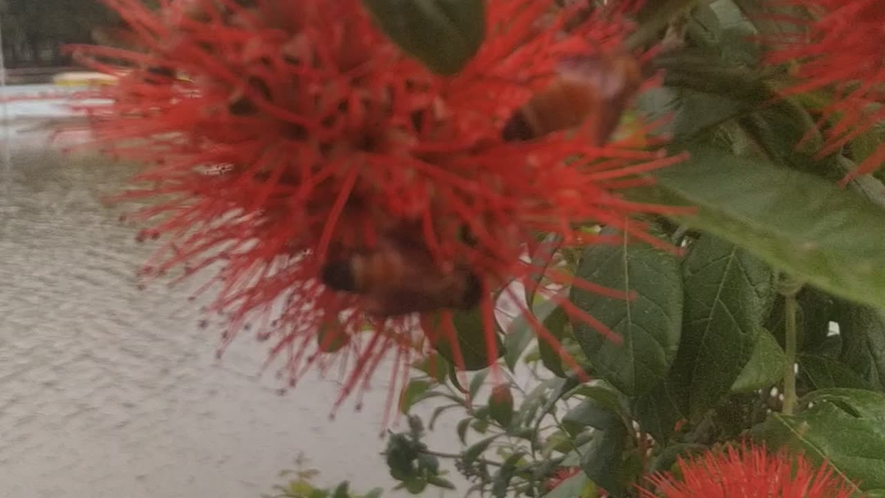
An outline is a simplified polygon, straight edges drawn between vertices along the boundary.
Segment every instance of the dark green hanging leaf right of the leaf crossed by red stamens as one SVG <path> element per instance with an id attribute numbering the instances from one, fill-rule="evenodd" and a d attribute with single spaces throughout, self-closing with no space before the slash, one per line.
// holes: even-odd
<path id="1" fill-rule="evenodd" d="M 772 268 L 708 234 L 682 264 L 685 324 L 671 375 L 688 391 L 689 419 L 719 403 L 750 361 L 774 300 Z"/>

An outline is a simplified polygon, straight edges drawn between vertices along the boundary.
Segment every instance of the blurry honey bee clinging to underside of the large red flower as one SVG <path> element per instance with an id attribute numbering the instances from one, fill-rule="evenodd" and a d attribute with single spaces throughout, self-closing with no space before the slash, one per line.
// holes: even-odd
<path id="1" fill-rule="evenodd" d="M 466 265 L 446 268 L 427 247 L 404 236 L 382 237 L 378 245 L 328 261 L 320 279 L 330 289 L 366 298 L 366 312 L 376 316 L 472 309 L 482 283 Z"/>

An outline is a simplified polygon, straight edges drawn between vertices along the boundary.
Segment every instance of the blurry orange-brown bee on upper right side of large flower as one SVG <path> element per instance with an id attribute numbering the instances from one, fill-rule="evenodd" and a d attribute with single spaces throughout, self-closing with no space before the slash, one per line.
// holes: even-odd
<path id="1" fill-rule="evenodd" d="M 522 105 L 504 123 L 508 142 L 534 140 L 549 133 L 588 126 L 589 140 L 608 141 L 630 98 L 643 82 L 643 69 L 627 54 L 596 54 L 561 61 L 550 87 Z"/>

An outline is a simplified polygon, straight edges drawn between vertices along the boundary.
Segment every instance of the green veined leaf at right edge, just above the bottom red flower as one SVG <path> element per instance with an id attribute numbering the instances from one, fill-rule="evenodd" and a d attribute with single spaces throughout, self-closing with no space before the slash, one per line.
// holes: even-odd
<path id="1" fill-rule="evenodd" d="M 828 461 L 862 489 L 885 487 L 885 395 L 860 390 L 817 393 L 797 416 L 771 414 L 753 433 L 770 447 L 803 451 Z"/>

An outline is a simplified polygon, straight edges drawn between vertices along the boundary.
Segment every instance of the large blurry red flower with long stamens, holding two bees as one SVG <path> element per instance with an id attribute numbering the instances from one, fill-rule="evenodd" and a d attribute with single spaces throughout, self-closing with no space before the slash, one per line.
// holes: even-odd
<path id="1" fill-rule="evenodd" d="M 157 220 L 142 237 L 168 239 L 147 273 L 218 268 L 212 309 L 232 316 L 226 339 L 258 320 L 259 338 L 273 338 L 272 357 L 285 355 L 281 371 L 293 384 L 312 366 L 342 362 L 350 368 L 343 399 L 391 352 L 391 380 L 407 375 L 427 339 L 456 334 L 450 308 L 459 303 L 417 302 L 422 284 L 461 289 L 472 278 L 494 346 L 492 291 L 538 271 L 521 259 L 538 231 L 568 245 L 615 242 L 575 228 L 602 222 L 655 241 L 627 218 L 672 211 L 617 193 L 675 160 L 643 150 L 644 129 L 607 146 L 589 143 L 591 126 L 502 137 L 504 122 L 550 84 L 564 58 L 620 47 L 629 32 L 621 9 L 596 12 L 564 35 L 573 12 L 542 25 L 548 0 L 492 0 L 481 50 L 442 77 L 381 35 L 358 0 L 164 2 L 158 12 L 139 0 L 105 1 L 141 50 L 77 49 L 90 66 L 119 74 L 119 85 L 86 96 L 111 100 L 88 108 L 96 142 L 149 165 L 137 178 L 142 190 L 124 196 L 152 199 L 132 218 Z M 368 265 L 391 247 L 394 291 L 323 284 L 353 269 L 335 261 Z M 546 275 L 623 295 L 554 269 Z M 273 306 L 282 315 L 271 321 Z M 427 318 L 437 308 L 443 326 L 424 333 L 404 313 Z"/>

